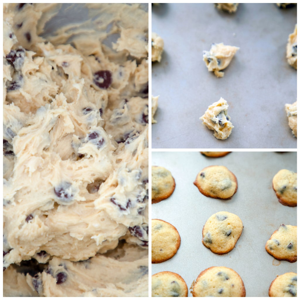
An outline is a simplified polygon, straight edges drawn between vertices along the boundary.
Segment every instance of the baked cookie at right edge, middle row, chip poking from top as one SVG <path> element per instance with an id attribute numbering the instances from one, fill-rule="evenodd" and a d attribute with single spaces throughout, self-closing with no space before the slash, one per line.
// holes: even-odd
<path id="1" fill-rule="evenodd" d="M 297 226 L 281 224 L 265 244 L 265 250 L 278 260 L 297 261 Z"/>

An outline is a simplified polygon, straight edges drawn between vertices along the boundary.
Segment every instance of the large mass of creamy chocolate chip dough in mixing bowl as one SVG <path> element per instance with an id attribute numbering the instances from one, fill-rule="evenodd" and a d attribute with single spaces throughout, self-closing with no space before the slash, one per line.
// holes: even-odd
<path id="1" fill-rule="evenodd" d="M 40 296 L 147 296 L 148 12 L 25 3 L 3 13 L 4 296 L 28 295 L 8 270 L 31 260 L 40 268 L 26 282 Z M 121 241 L 133 246 L 128 263 L 103 258 Z"/>

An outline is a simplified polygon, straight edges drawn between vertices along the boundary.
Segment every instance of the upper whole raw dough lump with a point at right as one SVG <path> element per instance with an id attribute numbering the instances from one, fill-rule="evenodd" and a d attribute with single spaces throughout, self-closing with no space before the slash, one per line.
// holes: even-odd
<path id="1" fill-rule="evenodd" d="M 221 70 L 228 67 L 238 49 L 240 48 L 226 46 L 223 43 L 211 44 L 209 51 L 203 51 L 203 61 L 205 62 L 208 71 L 214 72 L 214 75 L 217 77 L 223 77 L 224 72 L 221 72 Z"/>

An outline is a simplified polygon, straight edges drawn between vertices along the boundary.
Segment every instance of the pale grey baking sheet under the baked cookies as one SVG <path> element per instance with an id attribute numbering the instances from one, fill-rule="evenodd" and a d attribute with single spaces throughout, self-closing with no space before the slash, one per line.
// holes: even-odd
<path id="1" fill-rule="evenodd" d="M 247 297 L 268 297 L 277 275 L 297 272 L 297 262 L 278 261 L 265 250 L 280 224 L 297 225 L 297 208 L 280 204 L 272 188 L 279 170 L 297 171 L 296 152 L 232 152 L 222 158 L 207 158 L 199 152 L 152 152 L 152 165 L 170 170 L 176 182 L 170 198 L 151 205 L 152 219 L 173 224 L 181 236 L 176 255 L 152 264 L 152 275 L 178 273 L 189 289 L 204 269 L 226 266 L 241 276 Z M 206 197 L 193 184 L 199 171 L 210 165 L 223 165 L 235 174 L 238 189 L 232 199 Z M 201 242 L 206 220 L 218 211 L 237 214 L 244 225 L 235 248 L 223 255 L 212 253 Z M 192 297 L 190 292 L 188 296 Z"/>

